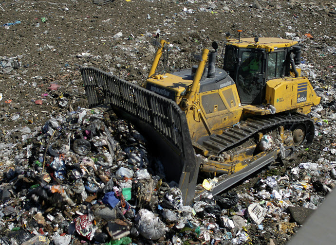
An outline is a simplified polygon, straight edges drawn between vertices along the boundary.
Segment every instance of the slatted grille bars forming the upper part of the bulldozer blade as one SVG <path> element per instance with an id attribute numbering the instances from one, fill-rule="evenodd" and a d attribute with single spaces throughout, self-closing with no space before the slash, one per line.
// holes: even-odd
<path id="1" fill-rule="evenodd" d="M 183 150 L 182 121 L 175 102 L 96 68 L 81 69 L 89 106 L 111 104 L 149 123 L 178 149 Z M 187 123 L 187 122 L 185 122 Z"/>

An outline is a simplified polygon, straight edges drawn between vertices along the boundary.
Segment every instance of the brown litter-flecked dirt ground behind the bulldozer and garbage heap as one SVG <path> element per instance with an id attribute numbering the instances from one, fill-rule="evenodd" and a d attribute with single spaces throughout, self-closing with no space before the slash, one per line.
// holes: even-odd
<path id="1" fill-rule="evenodd" d="M 210 48 L 213 41 L 222 50 L 226 33 L 238 37 L 238 29 L 243 30 L 242 37 L 298 36 L 313 87 L 334 89 L 336 3 L 257 2 L 261 9 L 252 7 L 253 0 L 114 0 L 104 5 L 93 0 L 1 0 L 0 56 L 19 62 L 10 72 L 0 71 L 0 142 L 19 143 L 12 158 L 0 159 L 1 171 L 20 151 L 22 128 L 35 130 L 51 116 L 87 106 L 79 66 L 141 84 L 155 54 L 153 38 L 171 43 L 168 65 L 174 70 L 190 67 L 191 54 Z M 219 55 L 219 66 L 221 62 Z M 335 96 L 324 94 L 327 100 L 321 101 L 319 113 L 328 116 L 335 113 Z M 287 165 L 267 171 L 285 172 L 297 162 L 316 160 L 325 154 L 320 148 L 326 139 L 318 138 L 309 153 L 301 152 Z M 254 244 L 266 244 L 270 237 L 256 236 Z"/>

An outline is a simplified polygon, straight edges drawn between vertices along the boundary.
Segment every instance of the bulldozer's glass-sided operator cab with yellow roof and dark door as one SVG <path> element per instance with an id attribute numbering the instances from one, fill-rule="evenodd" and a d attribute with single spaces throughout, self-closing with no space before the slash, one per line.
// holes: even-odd
<path id="1" fill-rule="evenodd" d="M 296 44 L 281 38 L 242 38 L 226 44 L 223 69 L 236 82 L 242 104 L 263 104 L 266 82 L 290 76 L 290 53 Z"/>

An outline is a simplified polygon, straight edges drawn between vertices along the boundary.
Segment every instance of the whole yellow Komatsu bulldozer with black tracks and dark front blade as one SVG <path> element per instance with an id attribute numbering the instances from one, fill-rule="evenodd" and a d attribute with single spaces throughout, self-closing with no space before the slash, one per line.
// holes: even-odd
<path id="1" fill-rule="evenodd" d="M 306 114 L 320 97 L 296 67 L 297 41 L 227 35 L 222 68 L 213 42 L 194 55 L 198 65 L 171 73 L 158 71 L 162 58 L 167 67 L 169 43 L 157 45 L 143 87 L 93 67 L 81 74 L 90 107 L 111 108 L 137 126 L 185 204 L 312 143 L 314 121 Z"/>

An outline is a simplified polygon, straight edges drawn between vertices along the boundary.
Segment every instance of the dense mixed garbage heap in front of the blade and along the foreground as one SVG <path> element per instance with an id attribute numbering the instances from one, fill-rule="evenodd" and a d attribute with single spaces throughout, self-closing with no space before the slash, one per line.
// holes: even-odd
<path id="1" fill-rule="evenodd" d="M 318 140 L 325 121 L 317 127 Z M 184 206 L 145 138 L 108 113 L 78 108 L 24 139 L 0 182 L 1 245 L 280 244 L 336 179 L 321 157 Z"/>

